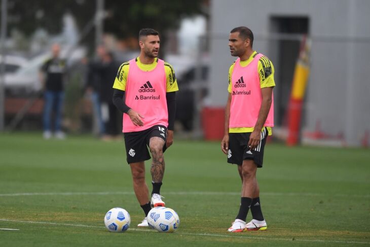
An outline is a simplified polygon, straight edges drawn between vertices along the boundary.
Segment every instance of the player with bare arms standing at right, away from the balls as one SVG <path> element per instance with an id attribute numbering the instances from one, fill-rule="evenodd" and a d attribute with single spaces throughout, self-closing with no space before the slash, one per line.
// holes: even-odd
<path id="1" fill-rule="evenodd" d="M 242 192 L 239 213 L 228 231 L 266 230 L 256 173 L 263 165 L 266 139 L 274 126 L 274 66 L 253 50 L 253 33 L 248 27 L 231 30 L 229 47 L 238 59 L 229 68 L 221 150 L 228 155 L 228 163 L 238 165 Z M 253 219 L 246 223 L 249 208 Z"/>

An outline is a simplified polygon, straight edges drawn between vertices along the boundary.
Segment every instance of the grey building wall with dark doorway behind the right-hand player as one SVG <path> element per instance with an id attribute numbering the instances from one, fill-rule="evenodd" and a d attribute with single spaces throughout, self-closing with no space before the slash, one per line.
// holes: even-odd
<path id="1" fill-rule="evenodd" d="M 343 136 L 359 146 L 370 132 L 370 1 L 212 0 L 209 101 L 224 107 L 230 56 L 228 37 L 237 26 L 254 33 L 253 49 L 275 65 L 275 123 L 282 126 L 302 34 L 312 39 L 304 131 Z M 366 134 L 367 133 L 367 134 Z"/>

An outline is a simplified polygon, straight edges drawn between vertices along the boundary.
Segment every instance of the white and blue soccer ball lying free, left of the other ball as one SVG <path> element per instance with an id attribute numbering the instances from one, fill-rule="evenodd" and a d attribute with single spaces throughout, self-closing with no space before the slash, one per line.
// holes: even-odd
<path id="1" fill-rule="evenodd" d="M 105 227 L 111 232 L 125 232 L 130 227 L 130 223 L 129 213 L 121 207 L 110 209 L 104 217 Z"/>

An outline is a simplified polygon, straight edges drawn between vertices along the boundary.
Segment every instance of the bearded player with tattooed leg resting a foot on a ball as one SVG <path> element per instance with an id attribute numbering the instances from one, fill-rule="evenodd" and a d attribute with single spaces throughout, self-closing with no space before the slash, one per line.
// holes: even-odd
<path id="1" fill-rule="evenodd" d="M 138 227 L 147 227 L 152 206 L 164 206 L 160 189 L 165 170 L 164 151 L 172 145 L 176 111 L 177 81 L 173 67 L 158 59 L 159 33 L 151 28 L 139 32 L 140 55 L 118 69 L 113 102 L 123 113 L 127 163 L 133 188 L 145 218 Z M 145 183 L 145 160 L 152 154 L 152 196 Z"/>

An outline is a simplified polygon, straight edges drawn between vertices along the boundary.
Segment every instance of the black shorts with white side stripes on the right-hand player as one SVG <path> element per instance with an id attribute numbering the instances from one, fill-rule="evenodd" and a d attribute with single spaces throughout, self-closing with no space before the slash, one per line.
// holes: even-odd
<path id="1" fill-rule="evenodd" d="M 265 127 L 261 131 L 261 141 L 255 149 L 249 150 L 249 133 L 229 133 L 228 163 L 242 165 L 243 160 L 251 159 L 257 167 L 262 167 L 264 161 L 264 149 L 269 131 Z"/>

